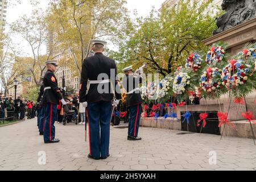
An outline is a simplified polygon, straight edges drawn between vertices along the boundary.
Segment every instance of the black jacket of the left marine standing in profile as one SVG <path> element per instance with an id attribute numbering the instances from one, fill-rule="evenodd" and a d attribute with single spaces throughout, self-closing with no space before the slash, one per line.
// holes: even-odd
<path id="1" fill-rule="evenodd" d="M 42 104 L 52 103 L 59 104 L 59 101 L 62 99 L 60 89 L 58 88 L 57 78 L 52 71 L 47 71 L 46 75 L 43 78 L 44 88 L 51 87 L 51 89 L 44 90 Z"/>

